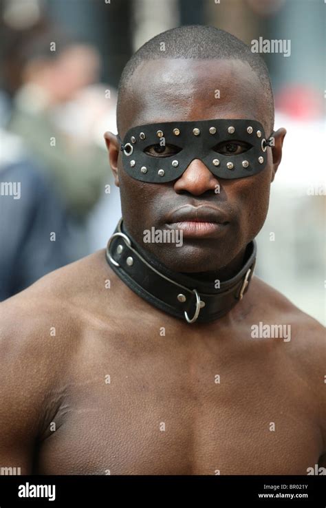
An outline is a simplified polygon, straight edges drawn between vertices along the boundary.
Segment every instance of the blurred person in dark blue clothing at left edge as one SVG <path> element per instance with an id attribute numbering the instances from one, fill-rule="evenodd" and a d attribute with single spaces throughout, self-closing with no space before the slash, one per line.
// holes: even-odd
<path id="1" fill-rule="evenodd" d="M 23 142 L 0 129 L 0 301 L 72 261 L 62 204 Z"/>

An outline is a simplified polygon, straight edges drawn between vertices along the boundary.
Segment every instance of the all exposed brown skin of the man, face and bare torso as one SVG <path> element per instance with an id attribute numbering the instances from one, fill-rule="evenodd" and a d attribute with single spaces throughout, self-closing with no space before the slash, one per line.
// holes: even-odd
<path id="1" fill-rule="evenodd" d="M 176 73 L 175 61 L 146 62 L 132 78 L 124 131 L 173 118 L 256 118 L 267 133 L 259 81 L 238 64 L 178 61 Z M 148 248 L 176 271 L 230 277 L 265 220 L 285 130 L 274 136 L 256 176 L 218 181 L 194 160 L 179 180 L 155 185 L 124 173 L 118 140 L 107 133 L 130 233 L 141 240 L 144 229 L 159 229 L 171 206 L 218 202 L 232 216 L 220 242 Z M 252 339 L 259 321 L 291 326 L 291 340 Z M 0 324 L 2 466 L 22 474 L 305 475 L 326 465 L 325 330 L 257 277 L 228 315 L 188 325 L 129 290 L 102 250 L 3 302 Z"/>

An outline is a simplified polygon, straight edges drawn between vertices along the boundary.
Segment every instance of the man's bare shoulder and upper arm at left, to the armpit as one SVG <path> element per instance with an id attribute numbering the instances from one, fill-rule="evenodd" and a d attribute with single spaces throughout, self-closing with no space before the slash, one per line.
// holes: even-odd
<path id="1" fill-rule="evenodd" d="M 17 452 L 21 460 L 19 447 L 44 435 L 65 398 L 84 330 L 91 319 L 100 322 L 91 306 L 105 279 L 102 258 L 95 253 L 65 266 L 0 304 L 0 450 L 6 456 Z M 21 463 L 24 471 L 29 460 Z"/>

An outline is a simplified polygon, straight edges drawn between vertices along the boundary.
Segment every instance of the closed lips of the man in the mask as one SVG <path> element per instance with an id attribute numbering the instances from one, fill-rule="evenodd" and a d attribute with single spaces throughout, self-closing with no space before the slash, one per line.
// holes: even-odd
<path id="1" fill-rule="evenodd" d="M 202 205 L 185 205 L 169 215 L 166 226 L 179 229 L 184 237 L 217 237 L 226 231 L 230 221 L 220 209 Z"/>

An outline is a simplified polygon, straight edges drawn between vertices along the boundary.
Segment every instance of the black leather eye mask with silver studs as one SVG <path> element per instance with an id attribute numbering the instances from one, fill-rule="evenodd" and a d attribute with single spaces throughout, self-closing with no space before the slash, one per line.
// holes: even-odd
<path id="1" fill-rule="evenodd" d="M 124 136 L 122 164 L 129 176 L 142 182 L 176 180 L 194 159 L 202 160 L 219 178 L 244 178 L 265 168 L 266 149 L 273 146 L 273 141 L 271 137 L 266 140 L 263 126 L 257 120 L 138 125 Z M 245 151 L 235 155 L 232 150 L 237 143 L 243 143 Z M 229 145 L 229 154 L 218 151 L 222 144 Z M 148 154 L 149 149 L 153 155 Z"/>

